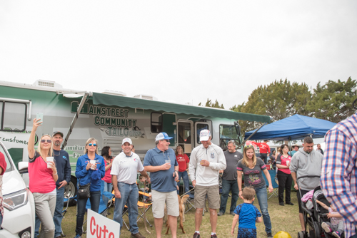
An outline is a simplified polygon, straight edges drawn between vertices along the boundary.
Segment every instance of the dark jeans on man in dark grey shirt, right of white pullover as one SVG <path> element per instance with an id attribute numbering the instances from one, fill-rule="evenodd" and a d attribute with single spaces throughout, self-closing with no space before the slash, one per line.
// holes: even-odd
<path id="1" fill-rule="evenodd" d="M 229 191 L 232 191 L 231 208 L 229 212 L 234 212 L 236 209 L 239 190 L 237 180 L 223 180 L 222 179 L 222 195 L 221 195 L 221 206 L 219 207 L 219 212 L 226 212 L 226 205 L 228 200 Z"/>

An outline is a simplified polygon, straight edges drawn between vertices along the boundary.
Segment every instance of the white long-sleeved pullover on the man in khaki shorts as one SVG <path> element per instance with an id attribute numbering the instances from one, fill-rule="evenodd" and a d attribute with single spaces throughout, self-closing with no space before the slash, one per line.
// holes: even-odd
<path id="1" fill-rule="evenodd" d="M 209 166 L 200 165 L 201 160 L 208 160 Z M 218 185 L 219 170 L 226 169 L 226 157 L 217 145 L 208 145 L 207 149 L 203 145 L 198 145 L 191 152 L 188 168 L 191 181 L 196 180 L 196 185 Z"/>

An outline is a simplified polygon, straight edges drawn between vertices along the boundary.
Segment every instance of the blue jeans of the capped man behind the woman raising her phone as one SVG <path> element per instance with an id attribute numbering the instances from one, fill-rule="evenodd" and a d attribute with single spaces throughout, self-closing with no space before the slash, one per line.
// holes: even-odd
<path id="1" fill-rule="evenodd" d="M 54 237 L 61 236 L 62 228 L 62 210 L 64 208 L 64 187 L 61 187 L 57 190 L 57 197 L 56 197 L 56 208 L 54 210 Z M 40 229 L 41 221 L 39 217 L 35 214 L 35 238 L 39 237 L 39 229 Z"/>

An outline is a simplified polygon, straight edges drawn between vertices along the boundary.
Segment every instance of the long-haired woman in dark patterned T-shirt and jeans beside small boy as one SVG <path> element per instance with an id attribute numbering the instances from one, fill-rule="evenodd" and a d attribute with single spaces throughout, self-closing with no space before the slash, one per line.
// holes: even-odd
<path id="1" fill-rule="evenodd" d="M 266 192 L 266 182 L 263 174 L 268 180 L 269 192 L 273 192 L 273 185 L 271 185 L 271 177 L 266 170 L 266 165 L 261 158 L 256 157 L 253 145 L 246 145 L 243 150 L 243 159 L 239 160 L 237 165 L 237 182 L 239 189 L 239 197 L 242 197 L 242 175 L 244 175 L 244 186 L 252 186 L 256 190 L 256 198 L 258 199 L 259 207 L 261 207 L 261 214 L 263 215 L 263 222 L 266 226 L 267 237 L 273 237 L 271 234 L 271 220 L 268 212 L 268 194 Z"/>

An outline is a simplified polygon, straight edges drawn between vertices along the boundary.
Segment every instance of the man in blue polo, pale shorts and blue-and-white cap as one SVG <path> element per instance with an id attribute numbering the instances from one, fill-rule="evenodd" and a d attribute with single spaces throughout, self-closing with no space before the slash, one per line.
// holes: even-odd
<path id="1" fill-rule="evenodd" d="M 169 149 L 169 135 L 159 133 L 156 135 L 156 148 L 146 152 L 144 168 L 150 172 L 151 197 L 153 200 L 153 215 L 156 238 L 161 238 L 164 217 L 165 201 L 171 237 L 176 238 L 178 197 L 176 181 L 178 180 L 178 163 L 174 150 Z"/>

